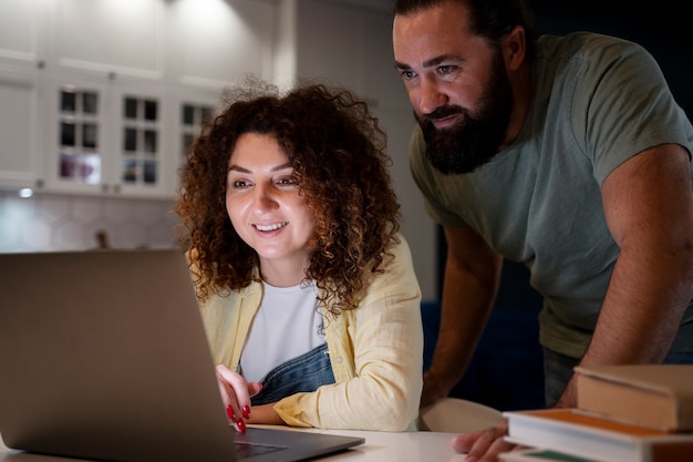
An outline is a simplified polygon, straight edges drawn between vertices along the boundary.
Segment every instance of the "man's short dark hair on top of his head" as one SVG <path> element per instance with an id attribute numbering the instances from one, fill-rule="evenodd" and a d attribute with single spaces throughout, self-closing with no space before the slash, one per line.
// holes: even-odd
<path id="1" fill-rule="evenodd" d="M 500 40 L 516 25 L 525 29 L 527 55 L 534 57 L 537 38 L 534 12 L 526 0 L 393 0 L 392 12 L 407 16 L 446 2 L 457 2 L 469 11 L 469 31 L 493 43 Z"/>

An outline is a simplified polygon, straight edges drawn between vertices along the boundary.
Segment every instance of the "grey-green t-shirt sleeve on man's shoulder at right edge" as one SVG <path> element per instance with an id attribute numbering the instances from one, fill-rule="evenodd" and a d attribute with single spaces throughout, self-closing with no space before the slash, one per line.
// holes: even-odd
<path id="1" fill-rule="evenodd" d="M 644 48 L 602 38 L 585 53 L 590 55 L 577 81 L 571 120 L 599 184 L 647 148 L 676 143 L 691 152 L 691 124 Z"/>

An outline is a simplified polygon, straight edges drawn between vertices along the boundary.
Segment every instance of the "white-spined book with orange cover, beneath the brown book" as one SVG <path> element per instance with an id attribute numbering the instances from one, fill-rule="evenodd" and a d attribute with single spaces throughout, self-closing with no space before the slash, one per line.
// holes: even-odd
<path id="1" fill-rule="evenodd" d="M 693 433 L 671 433 L 589 415 L 576 409 L 506 411 L 516 444 L 599 462 L 691 462 Z"/>

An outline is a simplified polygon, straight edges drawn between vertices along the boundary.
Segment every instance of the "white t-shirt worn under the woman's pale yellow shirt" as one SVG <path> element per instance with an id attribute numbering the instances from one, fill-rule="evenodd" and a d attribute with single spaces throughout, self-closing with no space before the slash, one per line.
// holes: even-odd
<path id="1" fill-rule="evenodd" d="M 265 292 L 240 357 L 240 373 L 260 381 L 270 370 L 324 343 L 316 286 L 273 287 Z"/>

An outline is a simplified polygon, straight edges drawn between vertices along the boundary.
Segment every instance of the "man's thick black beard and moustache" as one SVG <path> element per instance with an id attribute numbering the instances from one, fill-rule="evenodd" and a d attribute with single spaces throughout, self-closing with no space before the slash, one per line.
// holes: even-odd
<path id="1" fill-rule="evenodd" d="M 472 114 L 461 106 L 441 106 L 430 114 L 414 114 L 426 141 L 426 157 L 444 175 L 474 172 L 498 153 L 505 140 L 513 90 L 503 58 L 496 53 L 490 80 L 484 89 L 479 109 Z M 437 130 L 433 119 L 461 114 L 462 120 L 449 129 Z"/>

